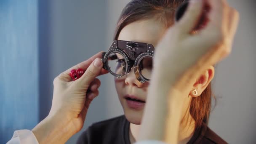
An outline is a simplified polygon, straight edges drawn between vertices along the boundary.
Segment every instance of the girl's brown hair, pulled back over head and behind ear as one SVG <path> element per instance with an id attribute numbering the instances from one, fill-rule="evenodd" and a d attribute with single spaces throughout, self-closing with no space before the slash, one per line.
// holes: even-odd
<path id="1" fill-rule="evenodd" d="M 118 39 L 120 31 L 134 21 L 155 18 L 162 21 L 166 27 L 173 24 L 176 8 L 185 0 L 131 0 L 123 9 L 117 22 L 114 40 Z M 211 110 L 211 83 L 201 96 L 192 98 L 189 112 L 195 119 L 195 126 L 208 123 Z"/>

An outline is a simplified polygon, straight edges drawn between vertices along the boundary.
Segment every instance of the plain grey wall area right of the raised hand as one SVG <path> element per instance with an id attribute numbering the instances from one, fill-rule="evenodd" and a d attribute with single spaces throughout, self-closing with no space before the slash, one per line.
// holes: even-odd
<path id="1" fill-rule="evenodd" d="M 231 144 L 255 144 L 255 1 L 227 0 L 240 12 L 231 55 L 217 66 L 213 88 L 219 99 L 209 127 Z"/>

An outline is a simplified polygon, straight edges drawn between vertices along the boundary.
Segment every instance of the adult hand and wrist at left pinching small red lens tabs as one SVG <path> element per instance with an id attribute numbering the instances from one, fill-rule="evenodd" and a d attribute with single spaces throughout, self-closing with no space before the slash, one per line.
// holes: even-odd
<path id="1" fill-rule="evenodd" d="M 67 69 L 53 80 L 53 101 L 49 115 L 32 131 L 39 143 L 65 143 L 83 128 L 91 101 L 98 96 L 102 69 L 101 53 Z M 72 81 L 72 69 L 84 69 L 82 77 Z M 90 91 L 88 93 L 88 91 Z"/>

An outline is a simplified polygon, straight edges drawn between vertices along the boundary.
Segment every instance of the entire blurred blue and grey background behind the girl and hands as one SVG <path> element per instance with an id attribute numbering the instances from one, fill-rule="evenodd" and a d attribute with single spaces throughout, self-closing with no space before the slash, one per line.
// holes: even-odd
<path id="1" fill-rule="evenodd" d="M 51 108 L 53 79 L 112 43 L 130 0 L 0 0 L 0 144 L 32 129 Z M 216 67 L 217 104 L 209 127 L 231 144 L 255 144 L 255 1 L 227 0 L 240 12 L 231 55 Z M 123 114 L 113 77 L 104 75 L 82 131 Z"/>

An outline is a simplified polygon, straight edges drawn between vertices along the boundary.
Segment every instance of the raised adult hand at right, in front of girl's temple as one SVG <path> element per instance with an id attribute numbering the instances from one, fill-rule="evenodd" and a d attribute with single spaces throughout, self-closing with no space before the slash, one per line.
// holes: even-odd
<path id="1" fill-rule="evenodd" d="M 202 16 L 204 21 L 200 21 Z M 157 45 L 157 75 L 153 76 L 176 83 L 175 87 L 184 91 L 207 67 L 229 55 L 238 19 L 238 12 L 226 0 L 189 1 L 182 19 L 168 29 Z M 198 27 L 199 22 L 203 27 Z M 197 31 L 193 34 L 194 29 Z"/>

